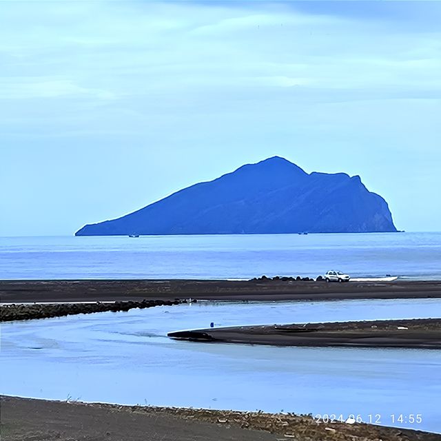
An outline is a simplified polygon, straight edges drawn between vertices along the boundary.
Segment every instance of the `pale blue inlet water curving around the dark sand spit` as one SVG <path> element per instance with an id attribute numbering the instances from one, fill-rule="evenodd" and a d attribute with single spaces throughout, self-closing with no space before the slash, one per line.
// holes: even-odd
<path id="1" fill-rule="evenodd" d="M 198 302 L 1 324 L 1 393 L 347 417 L 441 433 L 441 351 L 170 340 L 168 331 L 263 323 L 427 318 L 440 299 Z M 391 415 L 421 414 L 420 424 Z"/>

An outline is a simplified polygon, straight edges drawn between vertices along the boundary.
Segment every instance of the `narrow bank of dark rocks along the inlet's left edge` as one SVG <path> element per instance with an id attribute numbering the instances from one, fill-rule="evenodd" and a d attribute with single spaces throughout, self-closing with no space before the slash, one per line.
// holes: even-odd
<path id="1" fill-rule="evenodd" d="M 34 305 L 10 305 L 0 306 L 0 322 L 12 320 L 32 320 L 34 318 L 52 318 L 72 316 L 74 314 L 92 314 L 105 311 L 129 311 L 133 308 L 152 308 L 155 306 L 171 306 L 186 303 L 187 300 L 141 300 L 110 303 L 44 303 Z"/>

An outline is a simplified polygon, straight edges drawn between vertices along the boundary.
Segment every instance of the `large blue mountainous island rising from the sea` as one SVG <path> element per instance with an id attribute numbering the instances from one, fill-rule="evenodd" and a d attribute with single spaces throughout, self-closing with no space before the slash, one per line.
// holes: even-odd
<path id="1" fill-rule="evenodd" d="M 181 189 L 76 236 L 396 232 L 387 202 L 360 176 L 306 173 L 279 156 Z"/>

